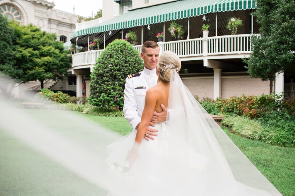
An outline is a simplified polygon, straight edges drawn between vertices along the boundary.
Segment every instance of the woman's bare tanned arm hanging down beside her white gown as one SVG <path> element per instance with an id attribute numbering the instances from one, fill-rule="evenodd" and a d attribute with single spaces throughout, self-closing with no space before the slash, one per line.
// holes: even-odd
<path id="1" fill-rule="evenodd" d="M 144 134 L 147 130 L 148 125 L 150 124 L 151 118 L 153 116 L 155 107 L 157 103 L 157 96 L 154 93 L 154 89 L 147 90 L 147 93 L 145 95 L 145 104 L 144 109 L 141 116 L 141 123 L 138 127 L 136 137 L 135 137 L 135 143 L 140 144 Z"/>

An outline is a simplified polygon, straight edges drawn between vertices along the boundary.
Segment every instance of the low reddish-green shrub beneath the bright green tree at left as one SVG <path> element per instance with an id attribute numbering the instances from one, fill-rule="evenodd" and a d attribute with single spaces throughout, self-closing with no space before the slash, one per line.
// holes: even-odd
<path id="1" fill-rule="evenodd" d="M 41 91 L 37 93 L 35 96 L 39 98 L 46 98 L 48 100 L 55 101 L 58 103 L 67 103 L 68 98 L 70 97 L 68 94 L 65 94 L 61 91 L 57 91 L 56 93 L 54 93 L 49 89 L 41 89 Z"/>

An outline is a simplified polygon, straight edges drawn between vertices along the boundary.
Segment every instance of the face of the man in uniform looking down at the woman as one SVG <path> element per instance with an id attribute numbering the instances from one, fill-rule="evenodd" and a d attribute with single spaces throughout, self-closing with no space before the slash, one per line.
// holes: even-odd
<path id="1" fill-rule="evenodd" d="M 156 48 L 145 48 L 144 53 L 140 53 L 141 59 L 143 59 L 144 67 L 147 69 L 154 69 L 157 66 L 159 59 L 159 47 Z"/>

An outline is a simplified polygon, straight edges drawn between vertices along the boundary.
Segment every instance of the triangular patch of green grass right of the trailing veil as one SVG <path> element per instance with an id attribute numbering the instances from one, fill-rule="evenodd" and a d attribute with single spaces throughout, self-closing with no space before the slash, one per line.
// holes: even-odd
<path id="1" fill-rule="evenodd" d="M 272 146 L 222 128 L 257 169 L 284 195 L 295 195 L 295 149 Z"/>

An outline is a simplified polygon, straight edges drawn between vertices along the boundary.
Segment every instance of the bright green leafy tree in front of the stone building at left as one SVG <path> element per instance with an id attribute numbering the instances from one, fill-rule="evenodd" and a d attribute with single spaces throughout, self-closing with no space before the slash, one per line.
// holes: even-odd
<path id="1" fill-rule="evenodd" d="M 46 79 L 62 79 L 71 68 L 69 51 L 64 50 L 63 43 L 56 41 L 57 36 L 53 33 L 41 31 L 32 24 L 20 26 L 11 22 L 14 29 L 14 55 L 17 67 L 21 73 L 18 80 L 26 83 L 39 80 L 41 88 Z"/>

